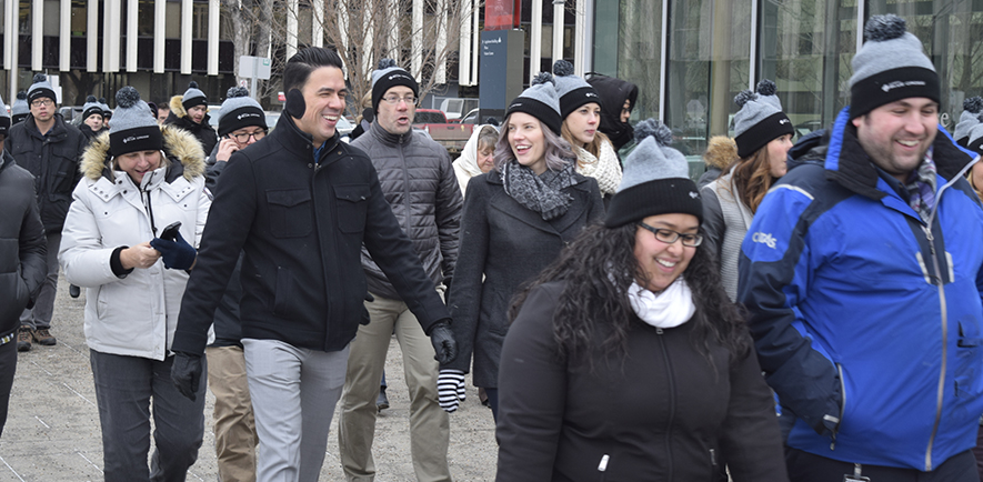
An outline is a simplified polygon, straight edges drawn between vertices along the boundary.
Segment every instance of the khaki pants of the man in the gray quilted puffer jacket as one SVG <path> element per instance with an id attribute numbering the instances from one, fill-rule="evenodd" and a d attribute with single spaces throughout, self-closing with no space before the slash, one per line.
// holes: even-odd
<path id="1" fill-rule="evenodd" d="M 433 345 L 405 303 L 373 297 L 375 301 L 365 302 L 371 322 L 359 327 L 359 333 L 351 343 L 341 395 L 338 444 L 345 479 L 372 481 L 375 476 L 372 460 L 378 412 L 375 398 L 379 396 L 379 380 L 385 365 L 389 342 L 395 330 L 410 391 L 410 451 L 417 480 L 450 481 L 450 420 L 438 403 L 439 366 L 433 359 Z"/>

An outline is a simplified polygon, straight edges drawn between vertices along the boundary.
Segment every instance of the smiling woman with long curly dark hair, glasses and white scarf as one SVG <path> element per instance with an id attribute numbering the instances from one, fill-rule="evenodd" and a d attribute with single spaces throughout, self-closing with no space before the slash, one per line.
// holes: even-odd
<path id="1" fill-rule="evenodd" d="M 751 337 L 700 248 L 685 158 L 653 120 L 635 134 L 604 223 L 510 310 L 496 480 L 788 481 Z"/>

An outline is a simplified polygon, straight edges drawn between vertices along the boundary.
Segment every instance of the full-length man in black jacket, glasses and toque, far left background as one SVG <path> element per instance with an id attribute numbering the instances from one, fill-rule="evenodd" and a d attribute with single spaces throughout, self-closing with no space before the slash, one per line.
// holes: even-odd
<path id="1" fill-rule="evenodd" d="M 23 122 L 10 128 L 7 152 L 18 165 L 34 175 L 41 222 L 48 233 L 48 278 L 41 285 L 34 308 L 21 314 L 18 351 L 29 351 L 32 341 L 49 347 L 56 343 L 49 330 L 58 288 L 58 247 L 61 244 L 61 227 L 72 202 L 72 190 L 82 175 L 79 160 L 88 144 L 82 132 L 56 112 L 54 90 L 47 76 L 34 76 L 27 97 L 31 113 Z"/>

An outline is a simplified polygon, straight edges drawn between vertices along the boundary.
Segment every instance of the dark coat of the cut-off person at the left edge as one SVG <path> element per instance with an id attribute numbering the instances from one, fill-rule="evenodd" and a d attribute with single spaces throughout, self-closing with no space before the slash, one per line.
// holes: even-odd
<path id="1" fill-rule="evenodd" d="M 48 277 L 48 243 L 31 173 L 0 157 L 0 338 L 20 325 L 20 313 Z"/>

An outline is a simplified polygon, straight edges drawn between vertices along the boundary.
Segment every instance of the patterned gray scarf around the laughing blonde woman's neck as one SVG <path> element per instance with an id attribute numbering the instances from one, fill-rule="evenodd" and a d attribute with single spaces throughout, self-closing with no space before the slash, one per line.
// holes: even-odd
<path id="1" fill-rule="evenodd" d="M 568 163 L 559 171 L 546 169 L 535 175 L 532 169 L 511 160 L 502 167 L 502 182 L 505 193 L 520 204 L 540 213 L 544 221 L 566 213 L 573 197 L 561 192 L 575 183 L 574 163 Z"/>

